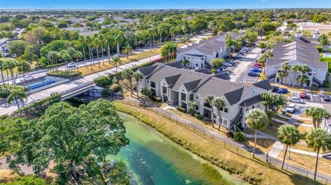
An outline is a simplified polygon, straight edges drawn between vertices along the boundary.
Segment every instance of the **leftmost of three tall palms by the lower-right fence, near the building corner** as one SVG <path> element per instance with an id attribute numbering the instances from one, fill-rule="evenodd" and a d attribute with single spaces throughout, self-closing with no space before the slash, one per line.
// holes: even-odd
<path id="1" fill-rule="evenodd" d="M 255 156 L 255 148 L 257 146 L 257 131 L 264 129 L 268 124 L 268 116 L 261 109 L 252 109 L 246 115 L 246 124 L 250 129 L 254 129 L 254 149 L 253 158 Z"/>

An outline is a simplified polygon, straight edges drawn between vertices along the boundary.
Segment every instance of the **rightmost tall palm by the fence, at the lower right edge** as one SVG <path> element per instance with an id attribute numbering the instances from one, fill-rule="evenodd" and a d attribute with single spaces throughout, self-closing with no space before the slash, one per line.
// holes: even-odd
<path id="1" fill-rule="evenodd" d="M 305 142 L 307 142 L 309 148 L 317 152 L 314 172 L 314 180 L 316 180 L 319 151 L 321 149 L 323 151 L 331 150 L 331 134 L 326 133 L 326 131 L 321 128 L 314 128 L 305 136 Z"/>

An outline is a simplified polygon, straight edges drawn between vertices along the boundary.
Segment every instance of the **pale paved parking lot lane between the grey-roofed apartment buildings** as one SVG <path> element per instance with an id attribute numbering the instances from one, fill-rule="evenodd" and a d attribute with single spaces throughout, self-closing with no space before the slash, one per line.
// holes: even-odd
<path id="1" fill-rule="evenodd" d="M 232 67 L 226 67 L 229 71 L 230 81 L 233 82 L 247 82 L 247 83 L 255 83 L 257 82 L 258 78 L 254 76 L 248 76 L 248 72 L 250 68 L 257 61 L 261 54 L 261 49 L 259 47 L 255 47 L 250 52 L 246 53 L 242 56 L 242 58 L 237 59 L 235 63 L 236 65 Z"/>

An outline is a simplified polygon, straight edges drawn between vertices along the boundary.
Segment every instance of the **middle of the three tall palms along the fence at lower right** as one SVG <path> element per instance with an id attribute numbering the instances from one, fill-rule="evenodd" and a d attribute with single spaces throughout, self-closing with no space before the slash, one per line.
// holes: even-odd
<path id="1" fill-rule="evenodd" d="M 286 153 L 288 152 L 288 146 L 293 146 L 299 142 L 299 131 L 293 125 L 283 124 L 278 129 L 277 138 L 281 143 L 286 145 L 283 163 L 281 164 L 281 168 L 283 169 Z"/>

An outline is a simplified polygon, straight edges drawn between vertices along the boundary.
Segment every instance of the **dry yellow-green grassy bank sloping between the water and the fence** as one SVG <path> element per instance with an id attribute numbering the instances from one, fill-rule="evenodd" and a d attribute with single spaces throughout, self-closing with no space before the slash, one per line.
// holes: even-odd
<path id="1" fill-rule="evenodd" d="M 121 102 L 114 102 L 114 105 L 118 111 L 128 113 L 149 124 L 185 149 L 251 184 L 317 184 L 310 179 L 306 182 L 305 178 L 300 175 L 285 173 L 285 171 L 265 162 L 252 160 L 250 153 L 245 152 L 242 155 L 237 155 L 225 150 L 178 124 L 174 124 L 171 120 L 154 111 L 125 105 Z"/>

